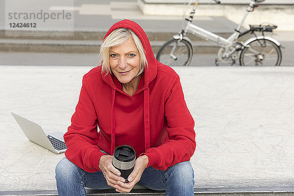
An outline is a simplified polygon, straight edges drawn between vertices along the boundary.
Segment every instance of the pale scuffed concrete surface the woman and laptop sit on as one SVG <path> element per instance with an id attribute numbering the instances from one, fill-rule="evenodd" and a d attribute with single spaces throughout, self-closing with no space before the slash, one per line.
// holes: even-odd
<path id="1" fill-rule="evenodd" d="M 0 66 L 0 191 L 56 189 L 64 154 L 29 142 L 10 111 L 65 132 L 91 68 Z M 196 122 L 196 188 L 294 187 L 293 67 L 175 70 Z"/>

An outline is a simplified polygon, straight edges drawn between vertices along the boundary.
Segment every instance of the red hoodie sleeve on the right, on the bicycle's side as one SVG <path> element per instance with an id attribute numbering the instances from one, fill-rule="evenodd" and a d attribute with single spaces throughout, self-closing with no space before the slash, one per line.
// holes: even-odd
<path id="1" fill-rule="evenodd" d="M 184 100 L 178 75 L 167 91 L 165 117 L 169 140 L 143 153 L 149 158 L 147 167 L 152 166 L 159 170 L 166 170 L 179 162 L 189 161 L 196 148 L 194 120 Z"/>

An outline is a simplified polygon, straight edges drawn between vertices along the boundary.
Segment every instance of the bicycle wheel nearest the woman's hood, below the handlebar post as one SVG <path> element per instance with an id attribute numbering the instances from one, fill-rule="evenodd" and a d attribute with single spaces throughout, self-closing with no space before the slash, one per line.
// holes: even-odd
<path id="1" fill-rule="evenodd" d="M 169 66 L 188 66 L 192 60 L 193 49 L 186 40 L 169 40 L 157 52 L 156 59 Z"/>

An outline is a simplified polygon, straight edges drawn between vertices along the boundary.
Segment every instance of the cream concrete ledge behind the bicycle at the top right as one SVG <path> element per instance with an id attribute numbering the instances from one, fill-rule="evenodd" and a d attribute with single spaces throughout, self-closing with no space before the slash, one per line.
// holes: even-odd
<path id="1" fill-rule="evenodd" d="M 202 3 L 201 3 L 202 2 Z M 206 1 L 204 1 L 206 2 Z M 225 17 L 228 20 L 239 24 L 249 1 L 245 3 L 225 3 L 221 0 L 221 4 L 203 3 L 199 1 L 199 5 L 196 9 L 196 17 Z M 267 1 L 265 1 L 267 2 Z M 276 1 L 278 2 L 278 1 Z M 251 12 L 247 17 L 244 27 L 249 24 L 263 24 L 272 23 L 278 25 L 280 31 L 292 31 L 294 30 L 294 21 L 289 20 L 294 15 L 294 3 L 290 1 L 283 1 L 284 3 L 261 3 L 258 8 Z M 141 11 L 145 15 L 156 16 L 186 16 L 189 15 L 193 9 L 194 4 L 187 8 L 187 5 L 183 1 L 167 1 L 154 2 L 151 0 L 138 0 L 138 5 Z M 164 10 L 164 11 L 162 11 Z"/>

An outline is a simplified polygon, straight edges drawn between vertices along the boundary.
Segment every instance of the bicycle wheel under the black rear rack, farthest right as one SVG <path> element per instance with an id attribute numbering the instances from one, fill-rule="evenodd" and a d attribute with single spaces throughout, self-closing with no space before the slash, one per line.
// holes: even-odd
<path id="1" fill-rule="evenodd" d="M 240 54 L 241 66 L 280 66 L 280 47 L 268 39 L 253 40 Z"/>

